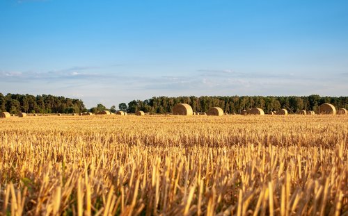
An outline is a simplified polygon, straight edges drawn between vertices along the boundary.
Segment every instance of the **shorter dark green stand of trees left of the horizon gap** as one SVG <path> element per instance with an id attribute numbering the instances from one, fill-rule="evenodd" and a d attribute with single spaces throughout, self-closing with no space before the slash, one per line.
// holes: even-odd
<path id="1" fill-rule="evenodd" d="M 51 94 L 33 96 L 30 94 L 0 93 L 0 112 L 9 113 L 80 113 L 86 111 L 80 99 L 56 97 Z"/>

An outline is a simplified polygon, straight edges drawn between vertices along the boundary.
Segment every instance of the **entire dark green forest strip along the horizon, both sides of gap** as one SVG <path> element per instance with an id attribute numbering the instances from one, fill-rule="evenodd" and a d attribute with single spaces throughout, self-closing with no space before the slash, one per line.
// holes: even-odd
<path id="1" fill-rule="evenodd" d="M 202 97 L 152 97 L 145 101 L 133 100 L 129 103 L 120 103 L 118 110 L 127 113 L 135 113 L 143 110 L 145 113 L 171 113 L 176 103 L 188 103 L 193 112 L 207 112 L 213 106 L 219 106 L 225 113 L 240 113 L 241 110 L 258 107 L 265 113 L 271 110 L 286 108 L 289 113 L 296 113 L 299 110 L 317 111 L 322 103 L 332 103 L 336 108 L 348 109 L 348 97 L 320 97 L 313 94 L 306 97 L 263 97 L 263 96 L 202 96 Z M 90 108 L 90 111 L 97 113 L 102 110 L 110 110 L 115 113 L 116 106 L 106 108 L 102 104 Z M 0 112 L 9 113 L 81 113 L 87 111 L 81 99 L 70 99 L 56 97 L 53 95 L 30 94 L 6 94 L 0 93 Z"/>

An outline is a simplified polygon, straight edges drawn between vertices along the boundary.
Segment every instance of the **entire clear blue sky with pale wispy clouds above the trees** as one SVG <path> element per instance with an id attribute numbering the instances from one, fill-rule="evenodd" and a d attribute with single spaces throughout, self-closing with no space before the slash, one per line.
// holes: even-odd
<path id="1" fill-rule="evenodd" d="M 347 96 L 348 1 L 0 0 L 0 92 Z"/>

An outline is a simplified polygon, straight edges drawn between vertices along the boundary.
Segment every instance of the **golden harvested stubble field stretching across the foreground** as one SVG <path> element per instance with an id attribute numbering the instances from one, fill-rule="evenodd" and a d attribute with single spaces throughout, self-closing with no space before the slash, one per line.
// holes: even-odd
<path id="1" fill-rule="evenodd" d="M 347 122 L 0 119 L 0 215 L 348 215 Z"/>

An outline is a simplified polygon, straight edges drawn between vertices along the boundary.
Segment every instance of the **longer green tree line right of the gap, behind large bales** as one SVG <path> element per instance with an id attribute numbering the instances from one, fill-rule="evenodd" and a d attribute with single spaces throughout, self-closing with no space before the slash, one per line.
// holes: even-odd
<path id="1" fill-rule="evenodd" d="M 188 103 L 193 112 L 206 113 L 209 108 L 219 106 L 225 113 L 240 113 L 248 108 L 262 108 L 265 113 L 285 108 L 289 113 L 299 110 L 314 110 L 317 112 L 322 103 L 331 103 L 336 108 L 348 109 L 348 97 L 320 97 L 317 94 L 297 97 L 274 97 L 274 96 L 202 96 L 202 97 L 152 97 L 151 99 L 133 100 L 128 103 L 120 103 L 118 108 L 128 113 L 142 110 L 145 113 L 171 113 L 176 103 Z"/>

